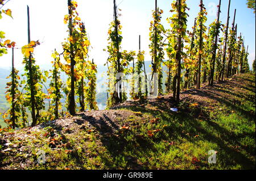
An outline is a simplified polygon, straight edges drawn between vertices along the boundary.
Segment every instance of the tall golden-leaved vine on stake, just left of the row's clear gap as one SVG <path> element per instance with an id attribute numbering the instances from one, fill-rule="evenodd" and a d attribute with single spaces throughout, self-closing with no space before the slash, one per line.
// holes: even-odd
<path id="1" fill-rule="evenodd" d="M 68 24 L 69 37 L 62 44 L 63 53 L 55 53 L 57 64 L 67 75 L 67 87 L 64 92 L 67 94 L 67 108 L 71 115 L 76 113 L 75 95 L 79 96 L 81 111 L 85 110 L 85 78 L 86 74 L 92 71 L 88 58 L 90 41 L 86 35 L 84 23 L 76 11 L 77 2 L 68 0 L 69 14 L 65 15 L 64 23 Z M 60 55 L 63 55 L 65 64 L 60 62 Z"/>

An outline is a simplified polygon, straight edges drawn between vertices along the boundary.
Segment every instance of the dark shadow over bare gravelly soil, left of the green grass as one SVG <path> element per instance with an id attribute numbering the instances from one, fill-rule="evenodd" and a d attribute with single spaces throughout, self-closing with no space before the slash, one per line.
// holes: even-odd
<path id="1" fill-rule="evenodd" d="M 106 114 L 103 114 L 103 117 L 100 117 L 100 119 L 96 119 L 93 116 L 87 116 L 85 113 L 81 113 L 79 116 L 81 116 L 84 121 L 88 121 L 101 135 L 100 141 L 102 142 L 102 145 L 108 149 L 108 152 L 114 161 L 114 163 L 110 162 L 110 158 L 106 158 L 103 154 L 100 154 L 102 161 L 104 161 L 106 166 L 108 166 L 110 169 L 118 169 L 121 167 L 120 165 L 125 162 L 126 166 L 123 169 L 147 169 L 146 166 L 142 166 L 140 163 L 138 163 L 136 158 L 125 154 L 125 150 L 127 149 L 129 142 L 127 142 L 124 135 L 115 134 L 117 132 L 119 133 L 119 126 L 115 124 L 114 121 L 112 121 Z M 129 130 L 129 134 L 134 133 Z M 137 139 L 138 140 L 135 142 L 141 143 L 142 148 L 145 148 L 145 150 L 146 148 L 150 148 L 150 144 L 147 142 L 147 140 L 139 137 Z M 121 157 L 124 158 L 124 161 L 119 160 Z"/>

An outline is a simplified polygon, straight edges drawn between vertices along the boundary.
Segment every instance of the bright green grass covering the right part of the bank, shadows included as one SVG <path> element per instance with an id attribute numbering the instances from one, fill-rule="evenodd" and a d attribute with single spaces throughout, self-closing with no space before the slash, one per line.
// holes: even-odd
<path id="1" fill-rule="evenodd" d="M 254 75 L 247 76 L 251 83 L 255 82 Z M 159 117 L 160 121 L 153 125 L 139 123 L 140 128 L 127 132 L 128 144 L 122 155 L 132 155 L 143 169 L 255 169 L 255 83 L 253 89 L 233 99 L 240 100 L 241 105 L 220 102 L 214 112 L 209 112 L 208 119 L 195 117 L 193 112 L 130 107 Z M 154 129 L 160 131 L 148 137 L 147 131 Z M 142 142 L 138 134 L 144 137 Z M 216 164 L 208 163 L 209 150 L 218 151 Z M 199 162 L 193 163 L 193 158 Z"/>

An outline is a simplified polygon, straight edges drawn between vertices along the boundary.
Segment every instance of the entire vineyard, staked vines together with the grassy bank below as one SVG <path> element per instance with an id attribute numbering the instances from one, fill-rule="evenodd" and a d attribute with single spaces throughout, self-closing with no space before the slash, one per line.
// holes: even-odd
<path id="1" fill-rule="evenodd" d="M 0 58 L 12 55 L 9 76 L 0 73 L 0 103 L 7 107 L 0 107 L 0 169 L 255 169 L 255 60 L 249 65 L 233 1 L 222 12 L 219 0 L 206 26 L 207 7 L 198 0 L 191 29 L 196 6 L 170 1 L 164 27 L 155 0 L 146 52 L 141 35 L 138 50 L 122 49 L 121 10 L 113 0 L 102 78 L 76 1 L 67 1 L 67 37 L 61 51 L 53 50 L 49 71 L 37 64 L 42 42 L 31 40 L 27 6 L 27 44 L 16 46 L 0 30 Z M 0 0 L 0 19 L 13 18 L 8 2 Z M 255 13 L 255 1 L 247 6 Z M 23 54 L 22 73 L 15 51 Z M 105 81 L 102 94 L 98 79 Z M 209 150 L 216 150 L 216 164 L 208 162 Z"/>

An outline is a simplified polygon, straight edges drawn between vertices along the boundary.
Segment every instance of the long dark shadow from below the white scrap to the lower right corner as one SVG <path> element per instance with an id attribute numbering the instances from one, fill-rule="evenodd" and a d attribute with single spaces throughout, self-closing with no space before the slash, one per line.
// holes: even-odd
<path id="1" fill-rule="evenodd" d="M 171 121 L 171 120 L 178 120 L 176 124 L 171 124 L 170 127 L 164 128 L 165 131 L 168 133 L 165 136 L 161 136 L 157 140 L 154 140 L 155 143 L 161 142 L 163 140 L 168 140 L 172 138 L 172 140 L 175 140 L 177 137 L 183 137 L 189 142 L 196 142 L 197 139 L 194 138 L 193 136 L 188 136 L 185 133 L 189 133 L 191 135 L 196 135 L 200 134 L 200 139 L 201 140 L 207 140 L 209 142 L 215 142 L 222 153 L 224 155 L 229 155 L 233 159 L 233 161 L 239 165 L 241 165 L 242 169 L 253 169 L 255 167 L 255 163 L 251 161 L 249 158 L 245 157 L 240 151 L 231 148 L 230 146 L 232 145 L 240 145 L 240 143 L 237 141 L 238 137 L 243 137 L 243 136 L 254 136 L 252 134 L 248 135 L 239 135 L 237 136 L 236 134 L 229 132 L 227 129 L 220 127 L 217 123 L 214 123 L 213 121 L 210 120 L 205 120 L 207 121 L 207 127 L 210 127 L 214 129 L 215 132 L 220 133 L 220 137 L 216 137 L 212 134 L 212 132 L 208 131 L 207 129 L 201 128 L 201 124 L 196 120 L 194 117 L 192 117 L 189 114 L 184 114 L 184 113 L 165 113 L 163 114 L 162 112 L 157 112 L 155 110 L 145 110 L 141 107 L 131 107 L 130 108 L 133 111 L 141 111 L 142 113 L 150 113 L 151 115 L 154 115 L 155 117 L 159 117 L 162 120 L 165 121 Z M 171 116 L 171 119 L 170 119 Z M 183 124 L 183 127 L 181 128 L 179 124 Z M 255 136 L 254 136 L 255 137 Z M 229 143 L 227 145 L 226 143 Z M 255 149 L 250 150 L 246 149 L 247 153 L 250 155 L 255 156 Z M 223 158 L 225 160 L 225 158 Z M 227 163 L 228 165 L 233 165 L 234 163 Z"/>

